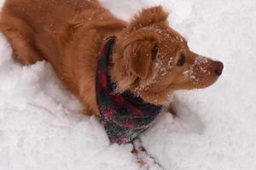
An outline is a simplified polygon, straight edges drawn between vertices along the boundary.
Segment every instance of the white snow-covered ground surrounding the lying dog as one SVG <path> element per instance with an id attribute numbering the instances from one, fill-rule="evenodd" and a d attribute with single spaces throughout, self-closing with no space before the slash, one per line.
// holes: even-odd
<path id="1" fill-rule="evenodd" d="M 102 3 L 125 20 L 163 5 L 190 48 L 225 65 L 212 87 L 175 95 L 179 118 L 165 114 L 143 135 L 148 152 L 168 170 L 255 170 L 256 1 Z M 0 35 L 0 170 L 142 169 L 131 144 L 109 144 L 102 125 L 81 110 L 48 63 L 15 63 Z"/>

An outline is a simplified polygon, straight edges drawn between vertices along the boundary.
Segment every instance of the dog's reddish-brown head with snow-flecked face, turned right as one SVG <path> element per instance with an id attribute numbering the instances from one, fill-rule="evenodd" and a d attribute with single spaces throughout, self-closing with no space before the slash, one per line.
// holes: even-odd
<path id="1" fill-rule="evenodd" d="M 118 91 L 131 90 L 156 105 L 167 105 L 174 90 L 210 86 L 224 67 L 190 51 L 167 16 L 161 7 L 136 14 L 117 37 L 110 73 Z"/>

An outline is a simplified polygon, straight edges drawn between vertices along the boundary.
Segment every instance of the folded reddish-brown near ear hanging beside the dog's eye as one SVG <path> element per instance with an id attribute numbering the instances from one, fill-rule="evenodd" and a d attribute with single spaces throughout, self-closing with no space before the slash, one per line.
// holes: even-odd
<path id="1" fill-rule="evenodd" d="M 132 74 L 146 79 L 152 65 L 152 42 L 134 42 L 128 59 L 128 68 Z"/>

